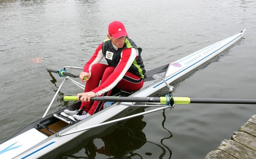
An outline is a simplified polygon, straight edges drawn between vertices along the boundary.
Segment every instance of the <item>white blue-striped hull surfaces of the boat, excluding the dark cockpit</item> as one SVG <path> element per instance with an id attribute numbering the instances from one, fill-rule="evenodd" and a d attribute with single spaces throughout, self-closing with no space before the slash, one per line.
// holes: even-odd
<path id="1" fill-rule="evenodd" d="M 245 30 L 244 30 L 245 31 Z M 212 59 L 214 56 L 218 55 L 220 52 L 224 51 L 226 48 L 237 42 L 242 36 L 244 35 L 244 31 L 241 33 L 238 33 L 234 36 L 231 36 L 229 38 L 226 38 L 220 42 L 217 42 L 215 44 L 212 44 L 202 50 L 199 50 L 197 52 L 194 52 L 193 54 L 190 54 L 180 60 L 177 60 L 176 62 L 173 62 L 169 65 L 167 71 L 165 74 L 155 74 L 154 78 L 159 79 L 156 80 L 154 83 L 151 84 L 150 81 L 145 82 L 145 87 L 143 87 L 141 90 L 135 92 L 134 94 L 130 96 L 134 97 L 146 97 L 152 95 L 152 93 L 159 91 L 160 89 L 166 87 L 166 84 L 160 80 L 162 78 L 165 79 L 166 82 L 171 83 L 175 81 L 176 79 L 179 79 L 180 77 L 184 76 L 185 74 L 191 72 L 198 66 L 204 64 L 208 60 Z M 149 84 L 149 85 L 148 85 Z M 127 104 L 127 103 L 126 103 Z M 70 131 L 76 131 L 79 129 L 83 129 L 85 127 L 90 127 L 96 124 L 103 123 L 110 119 L 111 117 L 120 114 L 121 112 L 126 111 L 130 107 L 126 105 L 112 105 L 110 107 L 107 107 L 106 109 L 103 109 L 102 111 L 92 115 L 91 117 L 88 117 L 82 121 L 76 122 L 72 124 L 71 126 L 60 130 L 58 133 L 68 133 Z M 110 113 L 111 112 L 111 113 Z M 110 116 L 111 114 L 111 116 Z M 30 130 L 29 130 L 30 131 Z M 42 157 L 45 154 L 53 151 L 57 147 L 60 147 L 67 143 L 68 141 L 78 137 L 78 135 L 81 135 L 83 133 L 86 133 L 86 131 L 80 131 L 77 133 L 73 133 L 70 135 L 65 135 L 61 137 L 56 137 L 56 135 L 51 135 L 50 137 L 45 137 L 44 135 L 36 135 L 38 133 L 34 133 L 31 135 L 31 133 L 25 132 L 21 135 L 18 135 L 0 145 L 0 158 L 4 159 L 36 159 L 38 157 Z M 39 132 L 39 131 L 38 131 Z M 26 145 L 26 142 L 30 141 L 30 137 L 33 136 L 35 138 L 40 138 L 38 141 L 35 141 L 33 144 L 29 146 Z M 41 136 L 41 137 L 39 137 Z M 27 140 L 23 140 L 23 139 Z M 15 145 L 20 145 L 19 147 L 15 147 Z M 15 152 L 15 153 L 14 153 Z"/>

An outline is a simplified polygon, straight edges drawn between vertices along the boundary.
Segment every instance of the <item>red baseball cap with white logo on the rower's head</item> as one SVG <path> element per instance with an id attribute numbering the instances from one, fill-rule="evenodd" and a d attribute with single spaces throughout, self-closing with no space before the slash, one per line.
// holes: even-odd
<path id="1" fill-rule="evenodd" d="M 108 25 L 108 34 L 111 34 L 116 39 L 120 38 L 121 36 L 128 36 L 124 24 L 119 21 L 111 22 Z"/>

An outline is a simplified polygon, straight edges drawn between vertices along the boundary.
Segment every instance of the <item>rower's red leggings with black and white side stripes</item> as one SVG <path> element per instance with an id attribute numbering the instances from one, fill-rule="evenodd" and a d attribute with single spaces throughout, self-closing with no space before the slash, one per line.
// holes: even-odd
<path id="1" fill-rule="evenodd" d="M 89 92 L 99 86 L 99 83 L 104 83 L 104 81 L 114 72 L 115 68 L 110 67 L 106 64 L 94 64 L 91 69 L 91 77 L 86 82 L 84 92 Z M 101 80 L 101 82 L 100 82 Z M 132 74 L 131 72 L 126 72 L 124 77 L 118 82 L 116 88 L 124 89 L 126 91 L 137 91 L 142 88 L 144 79 Z M 111 91 L 108 91 L 100 96 L 110 96 Z M 90 115 L 97 113 L 102 110 L 105 102 L 94 101 L 91 105 L 90 102 L 82 102 L 80 109 L 85 106 L 84 111 L 88 112 Z"/>

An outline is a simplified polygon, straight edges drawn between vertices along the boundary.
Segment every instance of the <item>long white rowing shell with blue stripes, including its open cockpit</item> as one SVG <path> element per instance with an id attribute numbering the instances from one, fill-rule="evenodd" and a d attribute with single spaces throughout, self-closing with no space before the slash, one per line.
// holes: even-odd
<path id="1" fill-rule="evenodd" d="M 204 64 L 232 44 L 237 42 L 246 30 L 235 34 L 229 38 L 216 42 L 202 50 L 194 52 L 176 62 L 160 66 L 147 72 L 147 79 L 144 82 L 144 86 L 139 91 L 136 91 L 131 97 L 146 97 L 166 87 L 167 83 L 179 79 L 180 77 L 188 74 L 198 66 Z M 166 81 L 166 82 L 164 82 Z M 77 109 L 80 104 L 76 103 L 68 107 L 69 109 Z M 82 129 L 84 127 L 92 127 L 100 123 L 104 123 L 110 118 L 124 114 L 130 107 L 126 103 L 114 103 L 113 105 L 106 107 L 102 111 L 82 120 L 73 123 L 66 124 L 66 126 L 57 129 L 57 132 L 51 131 L 45 125 L 54 125 L 61 120 L 55 118 L 54 115 L 48 115 L 40 120 L 31 123 L 14 136 L 10 137 L 7 141 L 0 145 L 0 158 L 1 159 L 36 159 L 43 157 L 46 154 L 54 151 L 60 146 L 65 145 L 68 141 L 71 141 L 86 133 L 86 131 L 79 131 L 76 133 L 70 133 Z M 67 108 L 65 108 L 67 109 Z M 60 114 L 63 110 L 57 111 L 54 114 Z M 52 123 L 54 121 L 54 123 Z M 50 127 L 50 126 L 49 126 Z M 56 127 L 53 127 L 56 128 Z M 46 129 L 46 130 L 44 130 Z M 50 132 L 46 132 L 50 131 Z M 68 135 L 62 135 L 67 134 Z"/>

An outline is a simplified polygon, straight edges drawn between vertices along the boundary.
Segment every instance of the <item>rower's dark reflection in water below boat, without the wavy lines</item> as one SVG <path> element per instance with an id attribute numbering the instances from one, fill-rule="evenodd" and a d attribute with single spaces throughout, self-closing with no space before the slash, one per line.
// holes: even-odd
<path id="1" fill-rule="evenodd" d="M 127 122 L 118 123 L 118 128 L 116 128 L 112 133 L 104 135 L 103 137 L 98 137 L 90 140 L 86 143 L 83 141 L 79 144 L 80 149 L 73 149 L 76 151 L 72 152 L 73 155 L 65 155 L 65 157 L 71 158 L 130 158 L 132 156 L 137 156 L 142 158 L 142 154 L 133 152 L 139 149 L 146 143 L 146 135 L 142 132 L 142 129 L 146 126 L 146 122 L 142 121 L 143 116 L 135 117 L 129 119 Z M 104 132 L 105 133 L 105 132 Z M 83 146 L 83 144 L 86 144 Z M 77 151 L 84 153 L 79 153 L 77 156 Z M 82 156 L 81 156 L 82 155 Z"/>

